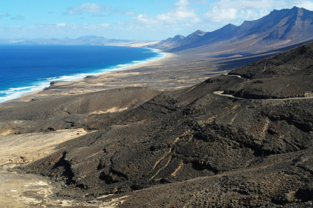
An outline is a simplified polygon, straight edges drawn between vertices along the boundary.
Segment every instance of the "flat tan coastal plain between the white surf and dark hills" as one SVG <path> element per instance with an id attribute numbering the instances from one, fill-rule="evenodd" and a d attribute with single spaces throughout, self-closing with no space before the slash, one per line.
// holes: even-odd
<path id="1" fill-rule="evenodd" d="M 10 105 L 42 98 L 85 94 L 122 87 L 150 87 L 161 91 L 181 89 L 230 71 L 208 54 L 166 53 L 166 57 L 125 69 L 86 76 L 72 81 L 55 81 L 53 85 L 0 105 Z M 236 64 L 232 67 L 235 68 Z M 231 68 L 231 69 L 232 69 Z"/>

